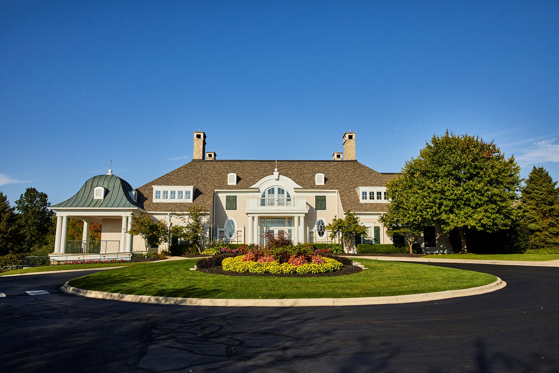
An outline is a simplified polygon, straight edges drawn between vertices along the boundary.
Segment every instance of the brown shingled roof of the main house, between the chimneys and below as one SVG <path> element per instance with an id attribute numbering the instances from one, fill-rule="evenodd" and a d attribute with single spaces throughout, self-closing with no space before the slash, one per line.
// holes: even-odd
<path id="1" fill-rule="evenodd" d="M 193 185 L 197 188 L 193 201 L 211 209 L 216 189 L 248 189 L 261 178 L 271 175 L 274 160 L 192 160 L 173 171 L 138 188 L 138 203 L 146 211 L 182 211 L 184 204 L 154 204 L 151 200 L 155 185 Z M 303 189 L 338 190 L 344 210 L 386 211 L 386 204 L 361 204 L 356 192 L 358 186 L 385 186 L 394 173 L 379 173 L 357 160 L 278 160 L 277 168 Z M 238 175 L 237 185 L 227 185 L 227 174 Z M 324 173 L 324 185 L 315 185 L 315 174 Z"/>

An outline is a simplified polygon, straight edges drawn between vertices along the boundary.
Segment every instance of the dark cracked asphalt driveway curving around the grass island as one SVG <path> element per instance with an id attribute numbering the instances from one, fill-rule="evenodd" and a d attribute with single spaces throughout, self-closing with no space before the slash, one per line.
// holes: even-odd
<path id="1" fill-rule="evenodd" d="M 93 271 L 0 277 L 0 371 L 559 372 L 559 268 L 441 265 L 508 285 L 424 303 L 225 308 L 58 290 Z"/>

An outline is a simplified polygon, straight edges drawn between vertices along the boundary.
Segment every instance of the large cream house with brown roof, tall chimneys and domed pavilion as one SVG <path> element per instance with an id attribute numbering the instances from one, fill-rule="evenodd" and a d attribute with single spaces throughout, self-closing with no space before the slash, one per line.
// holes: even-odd
<path id="1" fill-rule="evenodd" d="M 127 233 L 132 216 L 147 213 L 170 227 L 183 224 L 177 214 L 186 213 L 190 204 L 207 210 L 208 239 L 263 243 L 264 232 L 284 232 L 293 242 L 327 243 L 332 239 L 325 225 L 349 209 L 368 228 L 358 243 L 392 243 L 378 218 L 390 204 L 385 185 L 395 173 L 376 172 L 357 161 L 356 133 L 344 134 L 344 152 L 331 160 L 221 160 L 206 152 L 205 133 L 195 132 L 193 140 L 191 162 L 135 190 L 109 170 L 52 206 L 57 216 L 52 255 L 145 251 L 144 240 Z M 84 220 L 83 242 L 66 242 L 68 218 Z M 92 221 L 102 223 L 101 243 L 87 241 Z M 434 226 L 426 226 L 424 236 L 424 252 L 451 247 L 447 237 L 435 235 Z"/>

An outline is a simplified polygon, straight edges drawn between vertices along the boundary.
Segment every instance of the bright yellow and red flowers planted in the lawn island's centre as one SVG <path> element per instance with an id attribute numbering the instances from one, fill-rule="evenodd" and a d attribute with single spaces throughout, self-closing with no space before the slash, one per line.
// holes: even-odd
<path id="1" fill-rule="evenodd" d="M 280 263 L 273 255 L 256 256 L 250 252 L 244 256 L 225 258 L 222 260 L 224 271 L 250 273 L 324 273 L 338 271 L 342 263 L 332 258 L 312 256 L 309 261 L 305 256 L 292 255 L 287 262 Z"/>

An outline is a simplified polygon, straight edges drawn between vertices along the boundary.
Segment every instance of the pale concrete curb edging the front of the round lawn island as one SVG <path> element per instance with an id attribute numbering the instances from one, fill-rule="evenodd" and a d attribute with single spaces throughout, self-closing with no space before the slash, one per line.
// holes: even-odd
<path id="1" fill-rule="evenodd" d="M 168 296 L 131 295 L 116 292 L 78 289 L 68 285 L 60 286 L 60 291 L 89 298 L 122 300 L 126 302 L 151 304 L 176 304 L 188 306 L 229 306 L 229 307 L 301 307 L 301 306 L 354 306 L 369 304 L 413 303 L 429 300 L 457 298 L 485 294 L 503 289 L 506 282 L 497 277 L 491 284 L 471 287 L 470 289 L 425 292 L 396 296 L 371 296 L 364 298 L 297 298 L 297 299 L 205 299 L 205 298 L 172 298 Z"/>

